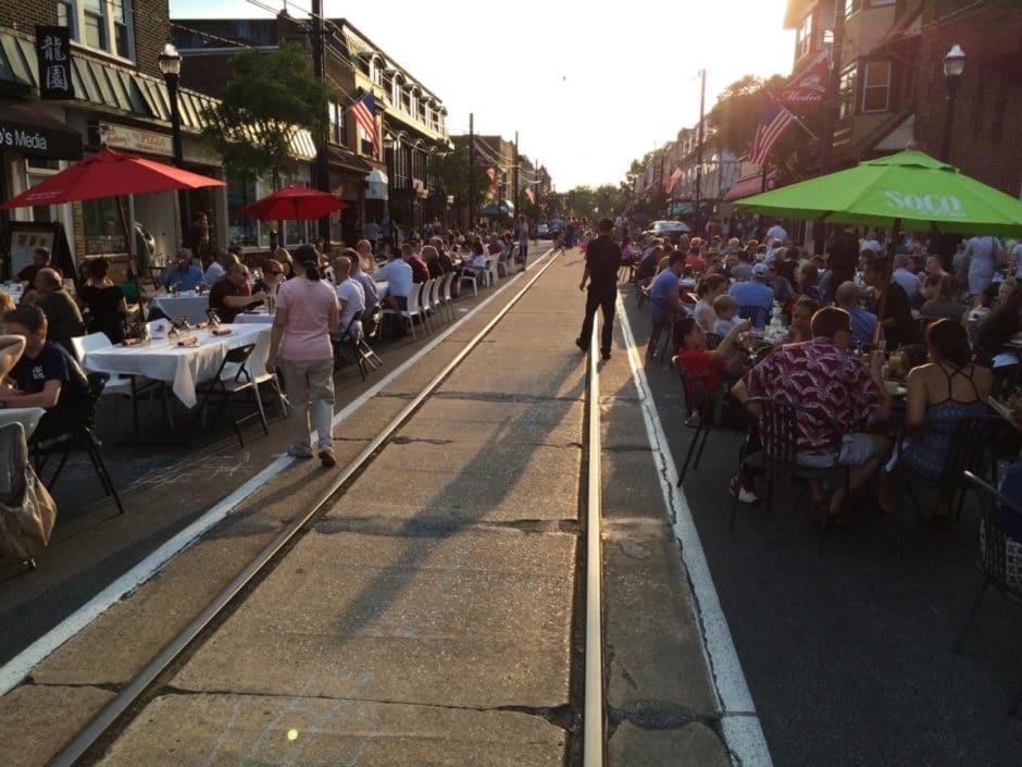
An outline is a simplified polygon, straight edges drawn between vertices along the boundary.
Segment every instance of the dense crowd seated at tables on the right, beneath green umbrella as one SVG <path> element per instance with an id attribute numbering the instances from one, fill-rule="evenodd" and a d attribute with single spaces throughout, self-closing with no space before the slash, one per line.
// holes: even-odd
<path id="1" fill-rule="evenodd" d="M 951 446 L 947 430 L 933 436 L 934 424 L 984 419 L 992 393 L 1022 381 L 1011 346 L 1022 341 L 1022 247 L 1008 243 L 1002 250 L 1014 260 L 995 262 L 1007 268 L 1005 277 L 983 267 L 984 281 L 969 260 L 976 239 L 984 238 L 942 258 L 906 236 L 893 261 L 873 232 L 860 240 L 851 228 L 838 232 L 822 257 L 792 240 L 764 247 L 682 236 L 671 247 L 651 239 L 632 257 L 634 279 L 650 298 L 649 351 L 660 332 L 673 331 L 686 399 L 720 397 L 714 418 L 749 428 L 747 449 L 759 448 L 755 408 L 745 407 L 751 398 L 824 416 L 799 416 L 797 461 L 836 461 L 847 469 L 847 484 L 825 496 L 810 483 L 815 512 L 842 521 L 846 488 L 876 490 L 875 505 L 887 511 L 893 472 L 940 477 Z M 763 333 L 777 318 L 786 329 Z M 740 502 L 758 500 L 751 474 L 739 473 L 731 490 Z M 935 522 L 948 518 L 949 504 L 942 488 L 930 509 Z"/>

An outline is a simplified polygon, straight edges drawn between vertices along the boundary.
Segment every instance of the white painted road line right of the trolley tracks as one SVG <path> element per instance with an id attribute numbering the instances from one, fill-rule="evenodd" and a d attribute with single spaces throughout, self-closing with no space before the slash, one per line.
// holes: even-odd
<path id="1" fill-rule="evenodd" d="M 618 317 L 621 319 L 621 332 L 624 335 L 632 375 L 638 389 L 639 407 L 646 422 L 646 434 L 652 447 L 653 460 L 663 502 L 671 512 L 674 535 L 682 552 L 682 561 L 688 571 L 688 586 L 691 591 L 696 620 L 699 621 L 702 638 L 702 652 L 710 672 L 710 680 L 716 692 L 721 710 L 721 731 L 731 752 L 732 763 L 740 767 L 771 767 L 770 751 L 760 727 L 759 715 L 749 693 L 749 685 L 741 671 L 741 661 L 735 652 L 727 628 L 727 619 L 721 608 L 710 567 L 702 550 L 702 542 L 696 530 L 688 507 L 685 492 L 677 486 L 677 470 L 671 446 L 668 444 L 663 424 L 657 412 L 646 371 L 635 345 L 632 325 L 625 312 L 621 294 L 618 295 Z"/>

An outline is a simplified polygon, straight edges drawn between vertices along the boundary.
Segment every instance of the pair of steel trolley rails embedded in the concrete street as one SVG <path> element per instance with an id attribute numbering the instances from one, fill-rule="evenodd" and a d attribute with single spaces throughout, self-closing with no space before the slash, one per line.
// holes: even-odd
<path id="1" fill-rule="evenodd" d="M 561 251 L 563 255 L 563 251 Z M 51 762 L 50 765 L 63 767 L 91 764 L 100 759 L 107 747 L 123 732 L 124 728 L 141 710 L 148 701 L 163 689 L 161 682 L 170 678 L 173 670 L 184 664 L 194 650 L 223 623 L 234 609 L 244 603 L 251 592 L 279 564 L 294 545 L 308 532 L 334 503 L 341 497 L 346 488 L 358 479 L 373 460 L 389 444 L 400 444 L 394 440 L 402 425 L 422 408 L 437 392 L 458 367 L 476 347 L 490 335 L 515 305 L 528 293 L 546 271 L 557 262 L 557 252 L 551 252 L 548 260 L 525 285 L 503 306 L 500 311 L 436 374 L 408 404 L 395 416 L 381 432 L 341 469 L 328 487 L 323 490 L 308 510 L 290 521 L 277 536 L 198 615 L 180 631 L 164 650 L 150 661 L 130 682 L 124 685 L 116 697 L 103 708 L 79 734 L 71 741 Z M 571 737 L 566 749 L 566 759 L 571 765 L 597 767 L 603 764 L 607 737 L 607 715 L 605 704 L 603 657 L 602 648 L 602 607 L 600 603 L 600 460 L 599 460 L 599 370 L 597 366 L 596 333 L 593 348 L 589 350 L 587 371 L 587 405 L 584 426 L 586 430 L 587 453 L 583 461 L 583 477 L 579 478 L 579 523 L 584 539 L 578 543 L 578 562 L 585 564 L 586 573 L 575 574 L 575 602 L 573 611 L 573 643 L 585 640 L 585 647 L 573 650 L 573 659 L 578 668 L 572 673 L 572 704 L 576 714 L 553 710 L 545 716 L 564 727 Z M 583 605 L 582 599 L 585 599 Z M 581 651 L 581 652 L 579 652 Z M 581 658 L 579 658 L 581 656 Z M 584 667 L 584 672 L 583 672 Z M 581 716 L 579 716 L 581 715 Z M 577 721 L 582 719 L 581 732 Z"/>

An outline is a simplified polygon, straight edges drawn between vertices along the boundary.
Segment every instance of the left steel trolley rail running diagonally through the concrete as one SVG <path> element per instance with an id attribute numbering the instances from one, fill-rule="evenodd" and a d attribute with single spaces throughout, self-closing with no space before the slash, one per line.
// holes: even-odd
<path id="1" fill-rule="evenodd" d="M 561 251 L 563 252 L 563 250 Z M 216 617 L 232 604 L 248 583 L 256 578 L 281 550 L 304 529 L 332 500 L 334 495 L 357 473 L 359 473 L 374 457 L 377 450 L 415 412 L 469 354 L 482 343 L 490 331 L 500 322 L 515 304 L 528 292 L 533 284 L 543 276 L 556 260 L 557 249 L 549 253 L 549 260 L 532 279 L 519 290 L 507 306 L 504 306 L 473 338 L 459 351 L 454 358 L 429 381 L 401 411 L 384 426 L 366 446 L 341 471 L 331 485 L 313 502 L 310 510 L 303 516 L 291 520 L 281 533 L 265 546 L 259 555 L 245 568 L 202 613 L 195 618 L 180 633 L 175 636 L 163 651 L 153 658 L 138 676 L 136 676 L 96 717 L 79 732 L 71 743 L 50 760 L 49 767 L 72 767 L 75 765 L 103 734 L 133 706 L 152 683 L 162 675 L 174 660 L 216 619 Z"/>

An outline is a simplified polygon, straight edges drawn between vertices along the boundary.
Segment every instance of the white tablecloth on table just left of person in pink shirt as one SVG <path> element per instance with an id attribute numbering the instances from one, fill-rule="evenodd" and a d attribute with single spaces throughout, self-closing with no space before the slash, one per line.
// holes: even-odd
<path id="1" fill-rule="evenodd" d="M 144 375 L 153 381 L 173 382 L 174 395 L 187 407 L 199 401 L 196 383 L 216 374 L 229 349 L 256 343 L 256 352 L 249 359 L 253 374 L 262 372 L 269 350 L 270 327 L 267 325 L 222 325 L 230 335 L 214 336 L 208 330 L 195 331 L 197 346 L 178 346 L 177 339 L 150 341 L 136 346 L 111 346 L 89 351 L 85 358 L 87 370 L 121 375 Z M 260 339 L 260 334 L 266 337 Z M 258 359 L 258 356 L 262 359 Z"/>

